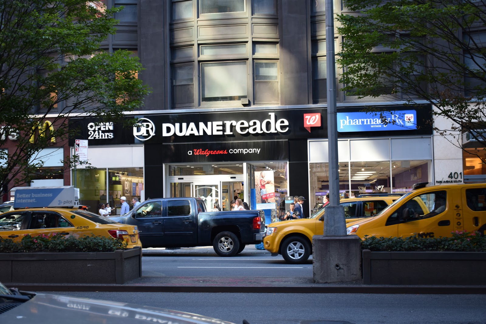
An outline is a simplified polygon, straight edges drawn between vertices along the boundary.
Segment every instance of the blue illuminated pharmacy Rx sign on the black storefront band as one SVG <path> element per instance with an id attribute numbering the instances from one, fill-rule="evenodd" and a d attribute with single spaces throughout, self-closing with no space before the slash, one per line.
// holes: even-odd
<path id="1" fill-rule="evenodd" d="M 415 110 L 382 112 L 382 118 L 377 113 L 337 113 L 337 131 L 340 133 L 413 129 L 417 129 L 417 112 Z"/>

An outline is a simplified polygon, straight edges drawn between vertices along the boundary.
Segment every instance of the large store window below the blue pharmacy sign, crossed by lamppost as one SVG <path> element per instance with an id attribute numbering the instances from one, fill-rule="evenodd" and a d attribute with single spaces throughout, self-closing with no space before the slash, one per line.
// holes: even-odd
<path id="1" fill-rule="evenodd" d="M 310 204 L 329 193 L 328 142 L 309 142 Z M 432 183 L 431 138 L 343 139 L 338 141 L 340 199 L 364 193 L 405 193 Z M 320 162 L 319 162 L 320 161 Z"/>

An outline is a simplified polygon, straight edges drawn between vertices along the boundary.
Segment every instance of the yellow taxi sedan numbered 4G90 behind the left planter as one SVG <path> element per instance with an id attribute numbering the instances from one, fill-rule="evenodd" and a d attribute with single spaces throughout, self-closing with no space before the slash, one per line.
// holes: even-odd
<path id="1" fill-rule="evenodd" d="M 128 248 L 142 247 L 137 226 L 114 222 L 87 210 L 72 208 L 22 208 L 0 214 L 0 238 L 20 241 L 25 234 L 105 236 L 121 239 Z"/>

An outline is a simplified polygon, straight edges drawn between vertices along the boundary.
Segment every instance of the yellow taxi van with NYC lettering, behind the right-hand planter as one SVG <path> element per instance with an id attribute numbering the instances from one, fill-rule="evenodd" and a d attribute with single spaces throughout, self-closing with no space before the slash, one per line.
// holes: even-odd
<path id="1" fill-rule="evenodd" d="M 347 224 L 347 234 L 377 237 L 450 237 L 454 231 L 486 231 L 486 184 L 419 183 L 372 219 Z"/>

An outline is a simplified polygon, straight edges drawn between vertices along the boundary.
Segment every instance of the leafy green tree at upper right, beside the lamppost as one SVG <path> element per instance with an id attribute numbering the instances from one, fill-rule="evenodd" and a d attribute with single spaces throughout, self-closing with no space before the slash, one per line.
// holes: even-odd
<path id="1" fill-rule="evenodd" d="M 486 131 L 476 130 L 486 130 L 485 2 L 345 0 L 345 6 L 355 12 L 337 18 L 346 94 L 429 102 L 435 131 L 461 148 L 459 134 L 469 132 L 484 152 Z M 438 118 L 451 126 L 437 126 Z"/>

